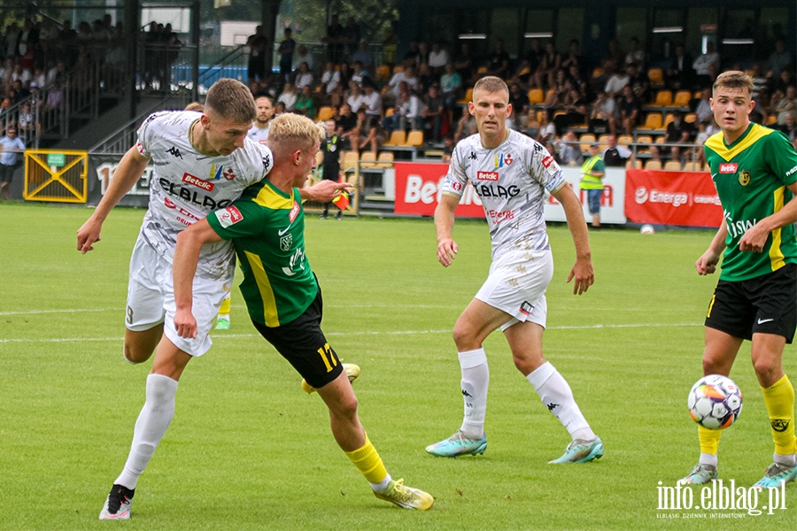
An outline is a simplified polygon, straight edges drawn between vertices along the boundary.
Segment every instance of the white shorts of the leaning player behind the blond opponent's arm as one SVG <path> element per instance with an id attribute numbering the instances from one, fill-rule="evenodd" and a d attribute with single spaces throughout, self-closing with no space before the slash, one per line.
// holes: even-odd
<path id="1" fill-rule="evenodd" d="M 202 356 L 211 347 L 208 334 L 232 281 L 232 275 L 228 279 L 213 280 L 194 277 L 191 312 L 197 319 L 197 337 L 180 337 L 174 328 L 177 305 L 174 303 L 172 265 L 139 236 L 130 257 L 125 326 L 133 332 L 142 332 L 163 323 L 164 334 L 178 349 L 191 356 Z"/>

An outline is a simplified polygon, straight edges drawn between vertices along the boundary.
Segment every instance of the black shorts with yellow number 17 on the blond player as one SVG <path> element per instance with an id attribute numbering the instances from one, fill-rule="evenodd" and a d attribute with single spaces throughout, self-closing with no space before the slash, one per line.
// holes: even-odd
<path id="1" fill-rule="evenodd" d="M 304 313 L 290 323 L 267 327 L 252 321 L 260 335 L 274 345 L 290 365 L 315 389 L 335 380 L 343 371 L 340 358 L 321 331 L 324 303 L 321 287 Z"/>

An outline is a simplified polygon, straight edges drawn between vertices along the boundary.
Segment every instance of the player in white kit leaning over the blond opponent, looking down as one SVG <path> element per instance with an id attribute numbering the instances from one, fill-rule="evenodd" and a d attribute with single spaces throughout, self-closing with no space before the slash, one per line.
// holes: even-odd
<path id="1" fill-rule="evenodd" d="M 113 206 L 133 188 L 152 160 L 155 170 L 149 209 L 130 258 L 124 356 L 137 364 L 154 351 L 155 359 L 128 460 L 114 481 L 100 519 L 130 518 L 138 478 L 174 417 L 177 381 L 190 359 L 211 346 L 208 332 L 235 272 L 233 246 L 220 242 L 202 249 L 193 283 L 193 310 L 199 327 L 194 339 L 180 337 L 174 328 L 174 247 L 182 229 L 225 208 L 271 170 L 271 151 L 246 138 L 254 118 L 249 89 L 229 79 L 217 81 L 208 90 L 201 114 L 152 114 L 139 128 L 136 145 L 121 159 L 94 214 L 78 229 L 78 250 L 85 254 L 100 240 L 104 219 Z M 341 188 L 336 185 L 329 181 L 324 188 L 303 189 L 302 196 L 331 201 Z"/>

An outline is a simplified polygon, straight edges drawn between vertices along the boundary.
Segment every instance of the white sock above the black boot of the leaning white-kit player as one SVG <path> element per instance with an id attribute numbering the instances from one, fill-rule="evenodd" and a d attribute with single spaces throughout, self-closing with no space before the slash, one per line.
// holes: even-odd
<path id="1" fill-rule="evenodd" d="M 177 381 L 162 374 L 147 376 L 147 401 L 144 403 L 138 420 L 135 421 L 133 444 L 130 446 L 125 469 L 114 481 L 128 489 L 135 489 L 138 476 L 158 448 L 160 439 L 174 417 L 174 395 L 177 394 Z"/>

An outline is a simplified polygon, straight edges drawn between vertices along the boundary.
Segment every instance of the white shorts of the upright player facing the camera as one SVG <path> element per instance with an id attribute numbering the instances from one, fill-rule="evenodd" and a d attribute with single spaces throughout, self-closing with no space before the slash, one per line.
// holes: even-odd
<path id="1" fill-rule="evenodd" d="M 552 278 L 551 250 L 509 253 L 492 263 L 476 298 L 512 316 L 501 331 L 525 321 L 546 327 L 546 289 Z"/>

